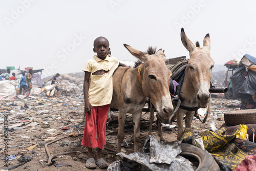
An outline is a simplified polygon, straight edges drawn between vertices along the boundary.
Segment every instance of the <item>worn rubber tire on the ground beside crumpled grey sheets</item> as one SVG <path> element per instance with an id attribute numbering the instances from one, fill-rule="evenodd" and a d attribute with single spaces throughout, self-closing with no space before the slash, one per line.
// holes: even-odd
<path id="1" fill-rule="evenodd" d="M 203 151 L 201 148 L 198 148 L 191 144 L 182 143 L 181 144 L 181 153 L 179 154 L 182 157 L 189 156 L 194 157 L 199 161 L 197 171 L 219 171 L 221 170 L 214 158 L 208 153 Z"/>

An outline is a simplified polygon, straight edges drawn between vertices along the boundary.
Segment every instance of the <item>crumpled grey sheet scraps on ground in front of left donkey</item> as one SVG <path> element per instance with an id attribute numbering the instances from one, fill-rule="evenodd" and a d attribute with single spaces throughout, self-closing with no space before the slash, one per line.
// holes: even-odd
<path id="1" fill-rule="evenodd" d="M 118 153 L 120 161 L 108 167 L 111 170 L 195 170 L 193 164 L 186 158 L 178 156 L 181 153 L 181 141 L 163 143 L 155 137 L 148 136 L 143 147 L 143 153 L 130 155 Z M 119 162 L 121 164 L 119 164 Z"/>

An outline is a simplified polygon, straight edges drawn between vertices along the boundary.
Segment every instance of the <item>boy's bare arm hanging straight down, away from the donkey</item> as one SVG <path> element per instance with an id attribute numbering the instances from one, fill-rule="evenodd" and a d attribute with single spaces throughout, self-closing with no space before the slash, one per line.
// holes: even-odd
<path id="1" fill-rule="evenodd" d="M 92 111 L 92 105 L 88 99 L 90 75 L 91 75 L 90 72 L 85 71 L 84 72 L 84 82 L 83 82 L 84 111 L 86 111 L 86 113 L 89 113 L 89 114 Z"/>

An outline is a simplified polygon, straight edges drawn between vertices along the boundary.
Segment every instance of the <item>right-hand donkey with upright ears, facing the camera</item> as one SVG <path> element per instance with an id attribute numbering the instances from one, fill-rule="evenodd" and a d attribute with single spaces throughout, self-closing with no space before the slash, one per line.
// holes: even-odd
<path id="1" fill-rule="evenodd" d="M 210 98 L 209 89 L 211 70 L 214 67 L 214 60 L 212 60 L 210 57 L 210 36 L 209 34 L 206 34 L 204 37 L 203 47 L 200 47 L 198 41 L 196 42 L 195 46 L 193 42 L 187 38 L 184 29 L 182 28 L 181 41 L 184 47 L 189 51 L 190 59 L 188 60 L 188 66 L 185 69 L 184 80 L 179 98 L 182 104 L 186 106 L 198 105 L 200 108 L 206 108 Z M 183 116 L 185 114 L 185 125 L 186 127 L 191 127 L 191 122 L 195 111 L 186 111 L 179 108 L 176 112 L 178 140 L 181 139 L 183 134 Z"/>

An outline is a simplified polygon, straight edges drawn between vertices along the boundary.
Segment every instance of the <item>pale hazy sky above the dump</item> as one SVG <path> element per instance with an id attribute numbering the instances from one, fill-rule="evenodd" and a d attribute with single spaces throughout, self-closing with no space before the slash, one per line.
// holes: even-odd
<path id="1" fill-rule="evenodd" d="M 211 39 L 216 64 L 245 53 L 256 57 L 255 1 L 0 0 L 0 69 L 45 69 L 45 76 L 81 72 L 93 57 L 93 41 L 104 36 L 112 55 L 136 60 L 123 44 L 166 58 L 189 56 L 180 39 Z"/>

